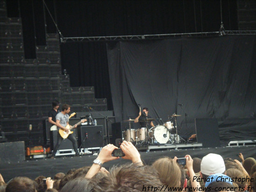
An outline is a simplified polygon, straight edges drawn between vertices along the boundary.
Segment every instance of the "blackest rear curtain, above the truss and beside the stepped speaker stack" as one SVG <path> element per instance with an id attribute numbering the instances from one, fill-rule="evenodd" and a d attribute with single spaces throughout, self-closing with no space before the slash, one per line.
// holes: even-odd
<path id="1" fill-rule="evenodd" d="M 36 58 L 35 46 L 46 45 L 46 33 L 57 33 L 49 9 L 64 37 L 147 35 L 237 30 L 233 0 L 8 0 L 8 17 L 22 17 L 25 58 Z M 96 98 L 107 98 L 113 110 L 105 41 L 61 44 L 61 65 L 72 87 L 94 86 Z"/>

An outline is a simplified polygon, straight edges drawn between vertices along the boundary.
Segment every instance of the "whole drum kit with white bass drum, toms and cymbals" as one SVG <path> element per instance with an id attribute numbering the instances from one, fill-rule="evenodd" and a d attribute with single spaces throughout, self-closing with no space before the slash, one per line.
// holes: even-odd
<path id="1" fill-rule="evenodd" d="M 155 119 L 145 118 L 144 120 L 141 120 L 139 122 L 144 122 L 146 127 L 141 127 L 140 129 L 131 129 L 131 123 L 134 122 L 135 119 L 124 120 L 124 122 L 129 122 L 129 129 L 122 132 L 122 139 L 125 141 L 131 141 L 136 143 L 135 146 L 148 143 L 180 143 L 180 136 L 177 132 L 177 117 L 179 116 L 181 115 L 174 114 L 170 116 L 174 120 L 168 120 L 164 122 L 163 125 L 157 125 L 151 128 L 148 128 L 148 125 L 151 121 L 154 121 Z"/>

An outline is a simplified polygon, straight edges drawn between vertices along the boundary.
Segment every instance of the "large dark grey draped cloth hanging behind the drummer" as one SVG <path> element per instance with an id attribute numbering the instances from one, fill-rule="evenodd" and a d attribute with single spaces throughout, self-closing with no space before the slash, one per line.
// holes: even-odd
<path id="1" fill-rule="evenodd" d="M 116 121 L 137 117 L 140 103 L 153 118 L 182 115 L 181 136 L 195 133 L 195 118 L 218 118 L 222 139 L 256 138 L 255 37 L 108 44 Z"/>

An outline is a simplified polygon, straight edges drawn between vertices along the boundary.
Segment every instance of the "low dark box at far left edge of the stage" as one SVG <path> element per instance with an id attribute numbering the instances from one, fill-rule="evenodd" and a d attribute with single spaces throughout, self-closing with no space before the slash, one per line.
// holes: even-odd
<path id="1" fill-rule="evenodd" d="M 25 161 L 24 141 L 0 143 L 0 164 Z"/>

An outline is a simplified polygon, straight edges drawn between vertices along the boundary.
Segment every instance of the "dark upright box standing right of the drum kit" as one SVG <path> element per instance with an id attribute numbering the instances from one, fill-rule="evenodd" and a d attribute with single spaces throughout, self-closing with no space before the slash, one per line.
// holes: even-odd
<path id="1" fill-rule="evenodd" d="M 218 120 L 216 118 L 196 118 L 197 142 L 203 147 L 221 146 Z"/>

